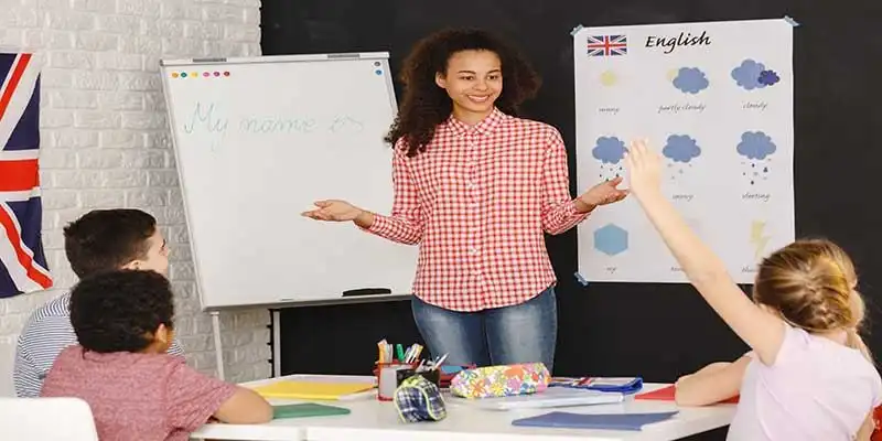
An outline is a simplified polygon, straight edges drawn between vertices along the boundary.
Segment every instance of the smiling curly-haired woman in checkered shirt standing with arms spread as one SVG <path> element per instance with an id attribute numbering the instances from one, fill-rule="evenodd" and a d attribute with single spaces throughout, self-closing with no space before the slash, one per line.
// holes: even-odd
<path id="1" fill-rule="evenodd" d="M 564 233 L 624 198 L 621 178 L 570 197 L 558 130 L 516 117 L 538 75 L 484 31 L 423 39 L 400 78 L 406 92 L 386 138 L 391 213 L 329 200 L 303 215 L 419 245 L 413 319 L 435 356 L 478 366 L 541 362 L 551 370 L 556 279 L 544 233 Z"/>

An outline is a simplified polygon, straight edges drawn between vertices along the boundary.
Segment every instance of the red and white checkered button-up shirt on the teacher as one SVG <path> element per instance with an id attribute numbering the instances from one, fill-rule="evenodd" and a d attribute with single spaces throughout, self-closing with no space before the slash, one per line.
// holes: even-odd
<path id="1" fill-rule="evenodd" d="M 424 152 L 395 148 L 395 202 L 367 229 L 419 244 L 413 294 L 454 311 L 523 303 L 555 283 L 544 232 L 588 217 L 570 196 L 567 151 L 551 126 L 495 109 L 450 118 Z"/>

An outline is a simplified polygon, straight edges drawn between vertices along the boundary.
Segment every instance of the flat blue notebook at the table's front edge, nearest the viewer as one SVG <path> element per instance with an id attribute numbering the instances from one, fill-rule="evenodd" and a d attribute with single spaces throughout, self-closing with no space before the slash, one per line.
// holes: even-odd
<path id="1" fill-rule="evenodd" d="M 657 413 L 570 413 L 550 412 L 512 421 L 513 426 L 561 429 L 642 430 L 644 426 L 669 419 L 677 411 Z"/>

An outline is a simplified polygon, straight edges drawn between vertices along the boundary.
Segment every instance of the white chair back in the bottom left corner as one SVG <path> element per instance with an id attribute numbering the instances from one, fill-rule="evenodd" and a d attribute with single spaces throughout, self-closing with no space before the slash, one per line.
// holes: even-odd
<path id="1" fill-rule="evenodd" d="M 98 441 L 95 419 L 79 398 L 0 398 L 3 441 Z"/>

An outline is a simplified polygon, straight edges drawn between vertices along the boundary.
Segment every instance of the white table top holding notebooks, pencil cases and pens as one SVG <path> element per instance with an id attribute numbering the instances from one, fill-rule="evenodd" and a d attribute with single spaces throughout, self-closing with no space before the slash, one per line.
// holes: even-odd
<path id="1" fill-rule="evenodd" d="M 276 379 L 245 384 L 262 385 Z M 667 385 L 646 384 L 644 391 Z M 272 404 L 297 401 L 272 400 Z M 258 426 L 212 423 L 204 426 L 193 438 L 214 440 L 259 441 L 669 441 L 728 426 L 735 413 L 734 405 L 701 408 L 678 408 L 667 401 L 644 401 L 628 398 L 615 405 L 596 405 L 562 409 L 492 411 L 476 409 L 467 404 L 449 399 L 448 418 L 439 422 L 404 423 L 391 402 L 376 398 L 333 401 L 352 413 L 336 417 L 295 418 L 275 420 Z M 642 431 L 574 430 L 549 428 L 519 428 L 512 420 L 551 410 L 583 413 L 660 412 L 678 410 L 667 421 L 645 426 Z"/>

